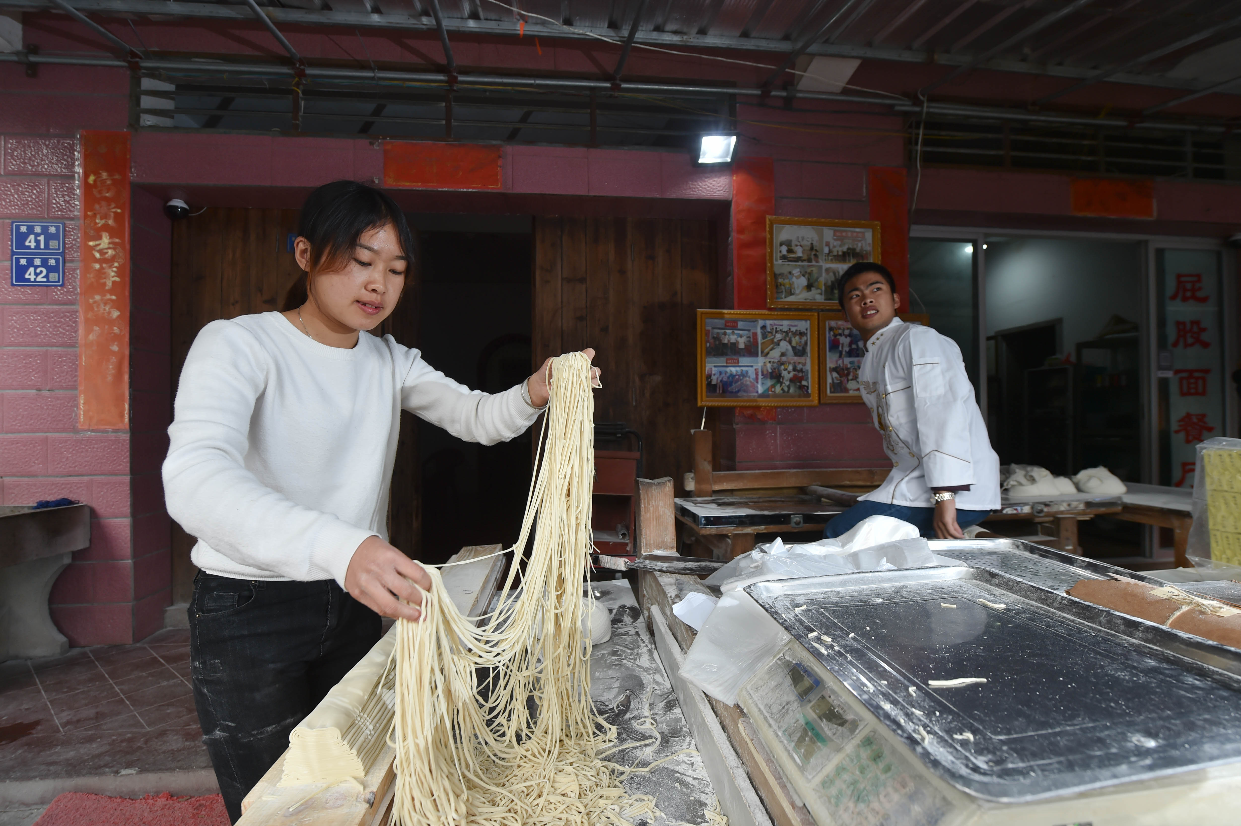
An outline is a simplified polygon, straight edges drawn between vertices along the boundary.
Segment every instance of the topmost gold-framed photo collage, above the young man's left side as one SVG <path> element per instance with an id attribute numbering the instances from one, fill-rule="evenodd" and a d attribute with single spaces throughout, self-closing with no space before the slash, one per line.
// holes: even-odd
<path id="1" fill-rule="evenodd" d="M 767 216 L 767 306 L 839 310 L 840 274 L 879 258 L 879 221 Z"/>

